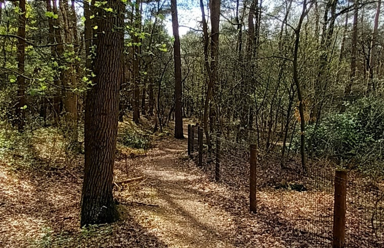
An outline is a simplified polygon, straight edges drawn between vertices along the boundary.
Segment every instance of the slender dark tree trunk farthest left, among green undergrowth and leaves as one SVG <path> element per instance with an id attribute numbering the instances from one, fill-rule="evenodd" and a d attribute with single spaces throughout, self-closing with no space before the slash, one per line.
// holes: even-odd
<path id="1" fill-rule="evenodd" d="M 24 67 L 25 67 L 25 0 L 19 1 L 20 13 L 19 15 L 19 26 L 17 28 L 17 36 L 20 37 L 17 42 L 17 98 L 16 104 L 16 118 L 17 128 L 21 132 L 25 127 L 25 78 L 24 78 Z"/>

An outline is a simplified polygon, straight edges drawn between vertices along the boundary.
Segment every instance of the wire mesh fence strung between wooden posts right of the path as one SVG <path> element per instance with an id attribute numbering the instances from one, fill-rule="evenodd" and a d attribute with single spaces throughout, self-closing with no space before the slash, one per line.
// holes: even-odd
<path id="1" fill-rule="evenodd" d="M 242 198 L 256 188 L 256 216 L 268 219 L 274 235 L 289 247 L 338 247 L 333 242 L 339 228 L 334 228 L 335 209 L 340 207 L 335 204 L 335 180 L 340 179 L 334 168 L 311 164 L 304 169 L 295 159 L 257 151 L 256 182 L 250 187 L 250 148 L 220 135 L 211 135 L 210 141 L 208 147 L 203 140 L 201 164 L 197 140 L 191 157 L 212 180 Z M 384 247 L 384 192 L 355 178 L 345 185 L 344 247 Z"/>

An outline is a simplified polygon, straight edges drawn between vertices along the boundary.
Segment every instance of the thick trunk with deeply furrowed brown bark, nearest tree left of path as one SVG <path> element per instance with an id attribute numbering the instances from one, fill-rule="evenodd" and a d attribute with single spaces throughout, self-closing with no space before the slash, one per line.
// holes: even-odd
<path id="1" fill-rule="evenodd" d="M 85 106 L 85 168 L 81 226 L 118 219 L 113 199 L 119 88 L 122 81 L 123 11 L 121 0 L 108 1 L 114 13 L 98 11 L 94 86 Z M 117 13 L 117 14 L 116 14 Z"/>

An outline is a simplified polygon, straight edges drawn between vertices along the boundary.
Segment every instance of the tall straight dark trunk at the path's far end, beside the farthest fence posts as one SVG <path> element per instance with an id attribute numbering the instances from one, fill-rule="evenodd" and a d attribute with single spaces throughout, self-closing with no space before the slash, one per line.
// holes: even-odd
<path id="1" fill-rule="evenodd" d="M 177 0 L 171 0 L 173 30 L 173 58 L 174 58 L 174 137 L 184 138 L 183 111 L 182 111 L 182 78 L 181 78 L 181 54 L 179 37 L 179 20 Z"/>

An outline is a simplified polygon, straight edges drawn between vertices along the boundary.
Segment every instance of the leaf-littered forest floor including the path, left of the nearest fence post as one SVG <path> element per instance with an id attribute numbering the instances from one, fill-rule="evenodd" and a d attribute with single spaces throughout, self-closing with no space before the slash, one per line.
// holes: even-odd
<path id="1" fill-rule="evenodd" d="M 41 141 L 49 145 L 46 138 Z M 317 242 L 331 242 L 323 232 L 331 233 L 332 222 L 323 230 L 310 220 L 327 215 L 331 221 L 332 195 L 265 190 L 258 193 L 258 214 L 251 214 L 247 183 L 215 182 L 212 168 L 198 168 L 187 156 L 187 139 L 170 133 L 157 135 L 145 153 L 127 160 L 118 156 L 114 196 L 120 221 L 80 228 L 83 157 L 55 163 L 47 154 L 34 169 L 0 160 L 0 247 L 323 247 Z M 121 182 L 131 178 L 141 180 Z M 293 213 L 305 218 L 294 219 Z"/>

